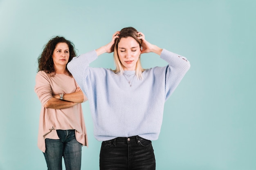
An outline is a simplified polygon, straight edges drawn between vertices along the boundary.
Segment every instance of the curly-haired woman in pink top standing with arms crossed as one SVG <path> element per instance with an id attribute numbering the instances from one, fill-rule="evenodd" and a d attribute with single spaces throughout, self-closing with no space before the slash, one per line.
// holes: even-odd
<path id="1" fill-rule="evenodd" d="M 48 170 L 81 169 L 82 145 L 87 145 L 81 103 L 87 98 L 67 70 L 76 56 L 74 44 L 54 37 L 38 57 L 35 92 L 42 104 L 38 147 L 43 151 Z"/>

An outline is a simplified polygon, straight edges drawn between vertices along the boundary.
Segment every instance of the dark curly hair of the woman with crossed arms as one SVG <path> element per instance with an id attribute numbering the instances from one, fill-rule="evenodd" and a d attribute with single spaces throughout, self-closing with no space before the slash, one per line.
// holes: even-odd
<path id="1" fill-rule="evenodd" d="M 49 40 L 47 44 L 45 44 L 43 52 L 39 55 L 37 71 L 45 71 L 46 73 L 53 73 L 52 76 L 56 75 L 56 69 L 54 68 L 52 55 L 56 45 L 60 42 L 66 43 L 67 46 L 69 47 L 70 57 L 67 63 L 69 63 L 72 60 L 72 58 L 76 56 L 74 44 L 71 41 L 66 40 L 64 37 L 56 36 L 51 40 Z M 66 65 L 66 71 L 68 75 L 72 77 L 72 74 L 67 69 L 67 65 Z"/>

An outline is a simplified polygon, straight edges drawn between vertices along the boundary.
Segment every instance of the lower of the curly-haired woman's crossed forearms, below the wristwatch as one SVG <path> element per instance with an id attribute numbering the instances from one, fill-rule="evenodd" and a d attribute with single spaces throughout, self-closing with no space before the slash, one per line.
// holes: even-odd
<path id="1" fill-rule="evenodd" d="M 44 105 L 45 108 L 53 108 L 53 109 L 63 109 L 63 108 L 70 108 L 75 106 L 78 103 L 64 101 L 56 98 L 51 98 L 48 102 Z"/>

